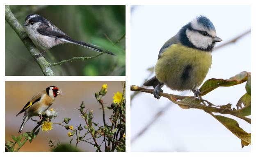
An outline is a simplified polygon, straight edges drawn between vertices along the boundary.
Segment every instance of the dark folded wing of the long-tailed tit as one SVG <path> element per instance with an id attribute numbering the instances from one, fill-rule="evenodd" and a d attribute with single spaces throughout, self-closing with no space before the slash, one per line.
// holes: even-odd
<path id="1" fill-rule="evenodd" d="M 37 31 L 38 33 L 46 36 L 70 38 L 69 35 L 66 35 L 66 33 L 57 27 L 42 27 L 37 29 Z"/>

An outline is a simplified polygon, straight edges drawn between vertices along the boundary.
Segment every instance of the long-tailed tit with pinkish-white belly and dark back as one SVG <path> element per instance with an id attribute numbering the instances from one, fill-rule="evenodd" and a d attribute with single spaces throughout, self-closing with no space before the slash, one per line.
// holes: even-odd
<path id="1" fill-rule="evenodd" d="M 52 48 L 53 46 L 64 43 L 72 43 L 87 47 L 99 53 L 105 52 L 110 55 L 114 55 L 114 53 L 103 50 L 96 45 L 70 38 L 69 35 L 66 35 L 66 33 L 56 27 L 52 22 L 38 14 L 27 15 L 25 18 L 24 27 L 29 38 L 33 40 L 35 44 L 45 49 L 42 53 Z M 42 53 L 40 53 L 40 55 Z"/>

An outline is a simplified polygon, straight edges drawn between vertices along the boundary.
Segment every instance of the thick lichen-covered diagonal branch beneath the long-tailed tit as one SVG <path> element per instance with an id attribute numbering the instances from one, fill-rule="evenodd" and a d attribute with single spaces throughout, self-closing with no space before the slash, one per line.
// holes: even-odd
<path id="1" fill-rule="evenodd" d="M 17 33 L 18 37 L 26 46 L 27 50 L 30 52 L 32 57 L 34 57 L 34 60 L 37 62 L 37 64 L 41 68 L 43 75 L 46 75 L 46 76 L 55 75 L 53 70 L 49 67 L 49 63 L 46 61 L 46 59 L 43 56 L 39 56 L 40 54 L 39 50 L 34 45 L 32 40 L 27 36 L 27 33 L 25 32 L 23 27 L 18 22 L 14 14 L 11 12 L 9 5 L 5 5 L 5 20 L 11 26 L 11 28 L 14 29 L 14 31 Z"/>

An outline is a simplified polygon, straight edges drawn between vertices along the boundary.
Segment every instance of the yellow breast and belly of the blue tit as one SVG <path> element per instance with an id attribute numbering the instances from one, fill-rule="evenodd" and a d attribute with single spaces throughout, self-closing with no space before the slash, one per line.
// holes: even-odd
<path id="1" fill-rule="evenodd" d="M 200 86 L 211 64 L 211 52 L 173 44 L 158 59 L 155 75 L 171 89 L 190 90 Z"/>

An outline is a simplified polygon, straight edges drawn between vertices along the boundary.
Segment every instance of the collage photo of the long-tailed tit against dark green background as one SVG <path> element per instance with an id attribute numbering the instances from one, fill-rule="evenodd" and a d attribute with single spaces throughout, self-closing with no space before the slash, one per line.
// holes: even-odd
<path id="1" fill-rule="evenodd" d="M 5 5 L 5 75 L 125 76 L 125 7 Z"/>

